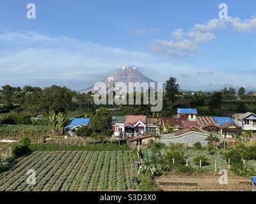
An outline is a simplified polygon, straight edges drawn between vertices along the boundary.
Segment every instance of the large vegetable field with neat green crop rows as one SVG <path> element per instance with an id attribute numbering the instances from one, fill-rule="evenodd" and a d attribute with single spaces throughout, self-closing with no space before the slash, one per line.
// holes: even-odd
<path id="1" fill-rule="evenodd" d="M 36 151 L 0 174 L 0 191 L 129 191 L 132 161 L 132 151 Z"/>

